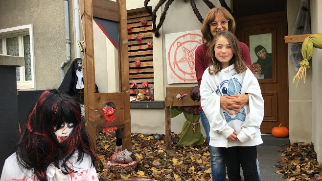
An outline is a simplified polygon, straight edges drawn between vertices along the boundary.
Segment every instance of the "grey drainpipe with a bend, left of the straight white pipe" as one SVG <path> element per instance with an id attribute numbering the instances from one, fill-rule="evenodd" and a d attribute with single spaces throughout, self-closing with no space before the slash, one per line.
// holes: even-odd
<path id="1" fill-rule="evenodd" d="M 68 0 L 64 0 L 65 7 L 65 32 L 66 32 L 66 60 L 60 65 L 60 81 L 64 80 L 64 67 L 70 61 L 70 39 L 69 39 L 69 12 L 68 12 Z"/>

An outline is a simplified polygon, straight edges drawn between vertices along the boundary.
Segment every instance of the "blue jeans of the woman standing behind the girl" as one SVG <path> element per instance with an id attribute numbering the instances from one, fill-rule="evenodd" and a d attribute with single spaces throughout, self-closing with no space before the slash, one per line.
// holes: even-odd
<path id="1" fill-rule="evenodd" d="M 206 136 L 207 136 L 207 143 L 208 143 L 208 148 L 210 152 L 212 181 L 226 181 L 226 167 L 225 167 L 224 158 L 219 151 L 220 149 L 219 147 L 213 147 L 209 145 L 210 124 L 204 111 L 200 111 L 200 120 L 204 126 Z M 256 159 L 256 164 L 257 164 L 259 181 L 261 181 L 258 159 Z"/>

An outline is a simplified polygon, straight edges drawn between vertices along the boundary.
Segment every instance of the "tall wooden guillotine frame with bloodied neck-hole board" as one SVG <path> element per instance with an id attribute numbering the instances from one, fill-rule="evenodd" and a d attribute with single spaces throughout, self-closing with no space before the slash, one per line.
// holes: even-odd
<path id="1" fill-rule="evenodd" d="M 132 150 L 131 144 L 131 118 L 129 94 L 129 64 L 127 49 L 127 18 L 126 0 L 82 0 L 81 19 L 85 33 L 86 52 L 83 61 L 84 67 L 84 101 L 85 126 L 93 140 L 93 150 L 96 151 L 96 132 L 108 126 L 123 128 L 122 147 Z M 105 20 L 118 22 L 119 32 L 119 93 L 94 93 L 94 42 L 93 42 L 93 16 Z M 111 102 L 115 107 L 115 121 L 107 124 L 104 119 L 103 107 Z"/>

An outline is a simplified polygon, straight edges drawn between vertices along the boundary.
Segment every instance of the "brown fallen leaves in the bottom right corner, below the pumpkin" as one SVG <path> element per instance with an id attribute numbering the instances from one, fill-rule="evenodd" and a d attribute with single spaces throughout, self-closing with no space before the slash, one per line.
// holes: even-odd
<path id="1" fill-rule="evenodd" d="M 278 150 L 282 159 L 279 161 L 278 174 L 283 174 L 285 181 L 320 181 L 322 165 L 317 161 L 313 143 L 291 143 L 288 147 Z"/>

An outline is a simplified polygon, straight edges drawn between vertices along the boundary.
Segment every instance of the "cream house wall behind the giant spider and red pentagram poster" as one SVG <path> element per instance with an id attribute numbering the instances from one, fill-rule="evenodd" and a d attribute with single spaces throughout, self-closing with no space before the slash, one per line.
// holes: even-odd
<path id="1" fill-rule="evenodd" d="M 217 1 L 216 1 L 217 2 Z M 155 8 L 157 0 L 151 0 L 148 6 Z M 215 6 L 218 5 L 214 3 Z M 227 2 L 230 4 L 229 2 Z M 196 5 L 201 15 L 205 17 L 209 8 L 203 1 L 196 1 Z M 127 0 L 128 10 L 144 7 L 144 0 Z M 157 12 L 157 22 L 164 10 L 164 4 Z M 175 21 L 174 21 L 175 20 Z M 166 87 L 195 86 L 197 83 L 168 84 L 166 69 L 165 34 L 200 30 L 201 23 L 193 13 L 189 2 L 175 0 L 169 7 L 163 25 L 159 31 L 160 37 L 153 37 L 153 58 L 154 58 L 154 84 L 156 101 L 164 101 Z M 161 68 L 162 67 L 162 68 Z M 180 133 L 185 118 L 183 114 L 171 119 L 171 131 Z M 202 127 L 202 126 L 201 126 Z M 165 133 L 165 110 L 164 109 L 131 109 L 131 130 L 133 133 Z M 202 127 L 202 133 L 205 131 Z"/>

